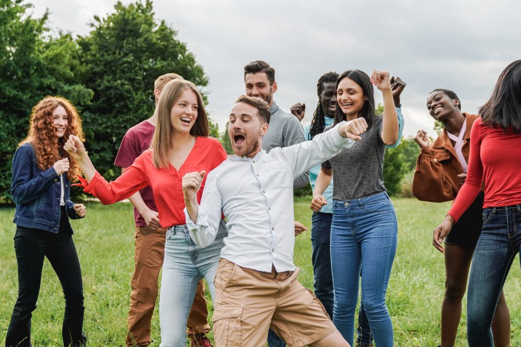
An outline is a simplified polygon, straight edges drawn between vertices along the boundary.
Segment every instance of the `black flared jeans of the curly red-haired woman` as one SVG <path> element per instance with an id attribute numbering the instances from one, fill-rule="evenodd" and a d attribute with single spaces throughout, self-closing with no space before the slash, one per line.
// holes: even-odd
<path id="1" fill-rule="evenodd" d="M 68 220 L 66 220 L 68 224 Z M 64 346 L 84 346 L 83 283 L 81 268 L 70 231 L 60 222 L 57 234 L 17 227 L 15 251 L 18 262 L 18 299 L 7 329 L 7 347 L 31 346 L 31 317 L 40 292 L 44 257 L 49 259 L 65 294 L 65 314 L 61 334 Z"/>

